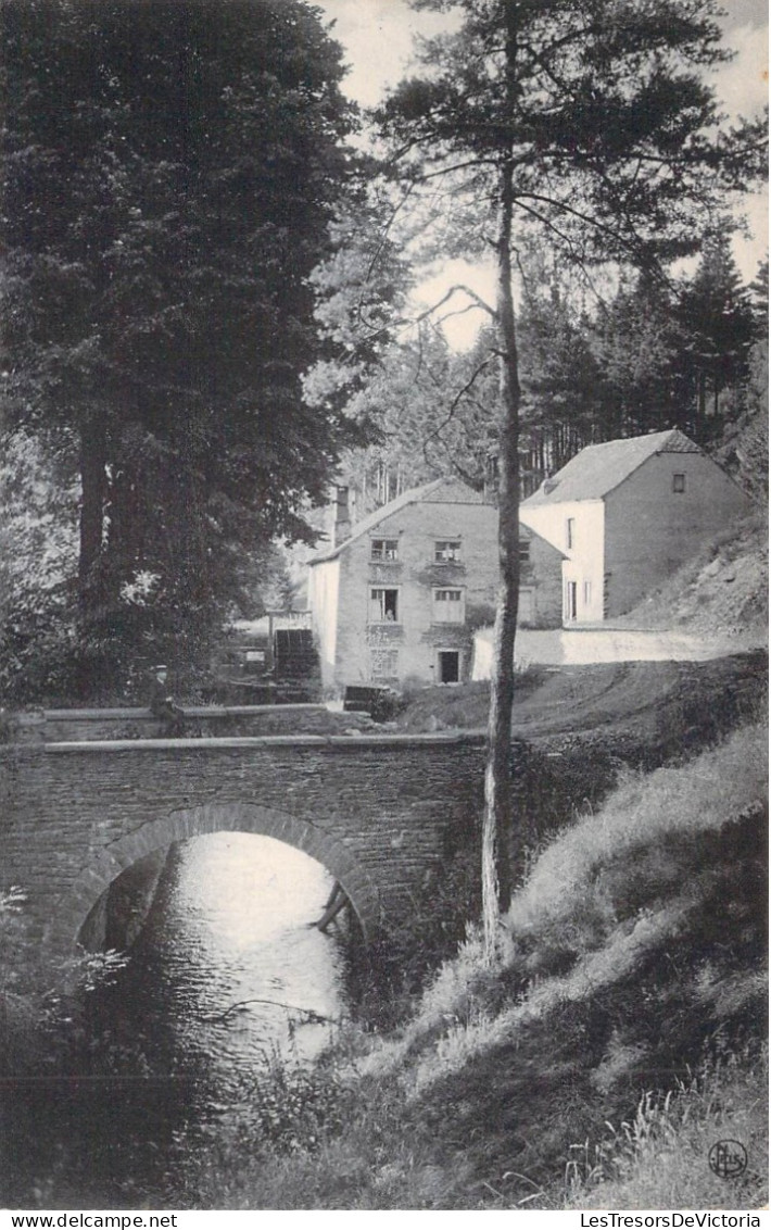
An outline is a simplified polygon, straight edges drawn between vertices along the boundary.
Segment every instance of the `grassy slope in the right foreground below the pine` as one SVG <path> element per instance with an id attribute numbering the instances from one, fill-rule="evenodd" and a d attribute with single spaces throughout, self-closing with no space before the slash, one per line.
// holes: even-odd
<path id="1" fill-rule="evenodd" d="M 628 775 L 536 861 L 503 969 L 470 938 L 398 1034 L 341 1042 L 317 1077 L 336 1130 L 300 1117 L 293 1156 L 234 1141 L 193 1204 L 761 1204 L 765 753 L 746 727 Z M 748 1146 L 740 1181 L 710 1173 L 719 1135 Z"/>

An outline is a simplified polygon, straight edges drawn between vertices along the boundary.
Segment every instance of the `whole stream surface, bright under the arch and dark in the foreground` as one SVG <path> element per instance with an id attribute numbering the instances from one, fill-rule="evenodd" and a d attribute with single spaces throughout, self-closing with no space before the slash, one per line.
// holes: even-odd
<path id="1" fill-rule="evenodd" d="M 310 1071 L 347 1010 L 344 934 L 311 925 L 332 886 L 272 838 L 218 833 L 173 847 L 128 964 L 89 996 L 93 1066 L 41 1084 L 31 1113 L 50 1141 L 17 1166 L 43 1172 L 43 1191 L 44 1171 L 61 1170 L 68 1207 L 132 1208 L 173 1193 L 191 1159 L 229 1132 L 272 1139 L 266 1089 Z"/>

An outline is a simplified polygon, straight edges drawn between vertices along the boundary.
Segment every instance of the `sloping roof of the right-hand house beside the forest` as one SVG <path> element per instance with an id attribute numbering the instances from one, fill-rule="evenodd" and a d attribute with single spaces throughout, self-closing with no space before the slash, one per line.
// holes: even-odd
<path id="1" fill-rule="evenodd" d="M 653 435 L 633 435 L 627 440 L 609 440 L 607 444 L 590 444 L 558 470 L 553 478 L 547 478 L 523 502 L 523 507 L 601 499 L 657 454 L 701 451 L 678 428 L 654 432 Z"/>

